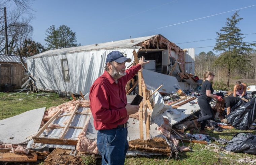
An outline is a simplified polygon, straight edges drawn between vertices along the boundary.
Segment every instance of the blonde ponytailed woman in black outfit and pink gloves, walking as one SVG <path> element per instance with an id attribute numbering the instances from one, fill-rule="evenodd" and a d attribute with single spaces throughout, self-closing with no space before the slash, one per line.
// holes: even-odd
<path id="1" fill-rule="evenodd" d="M 222 100 L 221 96 L 213 95 L 213 88 L 211 84 L 211 81 L 213 81 L 213 79 L 214 79 L 213 72 L 208 71 L 204 73 L 204 82 L 202 84 L 201 92 L 200 92 L 201 95 L 198 98 L 198 104 L 201 109 L 202 117 L 192 121 L 196 128 L 198 123 L 199 122 L 201 123 L 201 129 L 199 132 L 201 134 L 207 134 L 205 132 L 206 121 L 214 118 L 213 110 L 210 105 L 211 99 L 216 98 L 219 101 Z"/>

